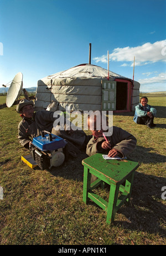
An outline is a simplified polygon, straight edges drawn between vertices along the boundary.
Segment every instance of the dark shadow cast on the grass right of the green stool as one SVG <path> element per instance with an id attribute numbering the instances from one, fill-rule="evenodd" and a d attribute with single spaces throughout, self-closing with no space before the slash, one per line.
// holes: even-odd
<path id="1" fill-rule="evenodd" d="M 124 228 L 155 233 L 166 237 L 165 205 L 162 200 L 162 187 L 165 178 L 145 175 L 136 171 L 132 188 L 131 202 L 121 207 L 118 213 L 126 216 L 128 221 L 115 221 Z M 158 241 L 159 243 L 159 241 Z"/>

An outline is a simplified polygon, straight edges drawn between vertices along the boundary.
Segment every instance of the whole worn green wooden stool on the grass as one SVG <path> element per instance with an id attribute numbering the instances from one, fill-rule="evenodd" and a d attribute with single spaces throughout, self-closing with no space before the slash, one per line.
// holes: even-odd
<path id="1" fill-rule="evenodd" d="M 89 199 L 107 212 L 107 223 L 113 222 L 115 213 L 124 202 L 129 202 L 132 191 L 134 171 L 139 163 L 132 160 L 105 160 L 101 153 L 82 160 L 84 165 L 84 187 L 83 201 L 87 203 Z M 97 177 L 97 180 L 91 183 L 91 174 Z M 108 202 L 97 196 L 93 192 L 98 185 L 103 182 L 110 185 L 110 196 Z M 125 183 L 125 186 L 122 185 Z M 119 192 L 122 192 L 121 195 Z"/>

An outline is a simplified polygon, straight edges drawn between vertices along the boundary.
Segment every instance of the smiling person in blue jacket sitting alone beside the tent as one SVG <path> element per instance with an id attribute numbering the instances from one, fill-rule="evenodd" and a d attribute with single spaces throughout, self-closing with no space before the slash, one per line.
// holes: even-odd
<path id="1" fill-rule="evenodd" d="M 147 125 L 148 128 L 155 127 L 153 123 L 154 116 L 156 115 L 156 109 L 151 105 L 148 105 L 148 98 L 143 96 L 140 99 L 140 103 L 135 107 L 134 122 L 139 125 Z"/>

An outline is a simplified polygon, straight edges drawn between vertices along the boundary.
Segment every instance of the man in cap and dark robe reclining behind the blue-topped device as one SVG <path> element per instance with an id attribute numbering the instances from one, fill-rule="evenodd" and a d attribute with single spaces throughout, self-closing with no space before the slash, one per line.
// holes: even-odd
<path id="1" fill-rule="evenodd" d="M 89 141 L 89 136 L 83 130 L 72 131 L 72 129 L 66 129 L 65 119 L 63 129 L 55 130 L 55 127 L 53 127 L 54 121 L 58 117 L 54 117 L 53 111 L 40 110 L 34 112 L 34 103 L 32 100 L 20 100 L 16 111 L 22 117 L 22 121 L 18 125 L 18 140 L 25 149 L 29 149 L 33 138 L 42 135 L 43 130 L 65 139 L 68 142 L 66 144 L 66 152 L 72 156 L 77 156 L 80 152 L 79 149 L 84 149 Z"/>

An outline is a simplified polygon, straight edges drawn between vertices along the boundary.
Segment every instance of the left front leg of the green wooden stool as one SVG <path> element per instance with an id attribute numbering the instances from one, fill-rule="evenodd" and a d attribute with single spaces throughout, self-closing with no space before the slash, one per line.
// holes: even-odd
<path id="1" fill-rule="evenodd" d="M 91 173 L 89 169 L 84 166 L 84 186 L 83 186 L 83 202 L 87 203 L 89 198 L 87 197 L 87 193 L 90 190 L 91 186 Z"/>

